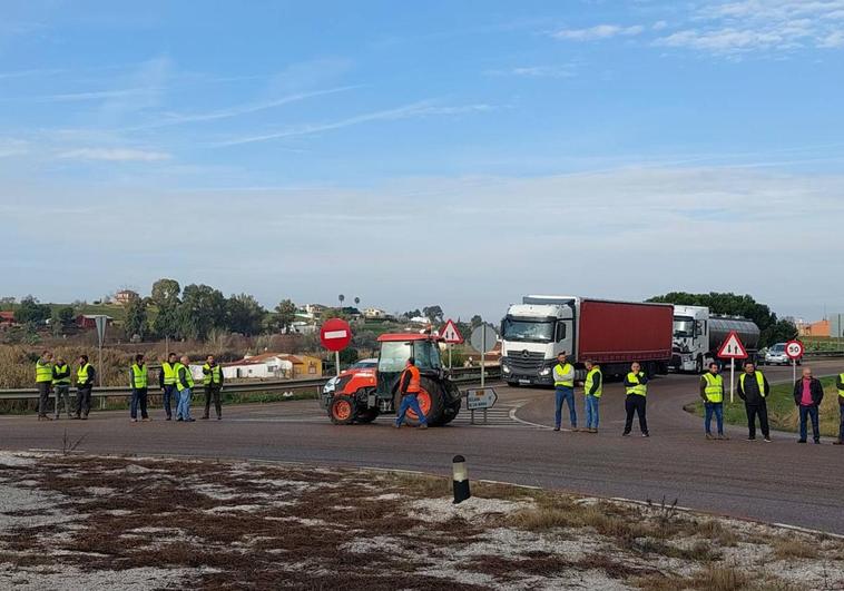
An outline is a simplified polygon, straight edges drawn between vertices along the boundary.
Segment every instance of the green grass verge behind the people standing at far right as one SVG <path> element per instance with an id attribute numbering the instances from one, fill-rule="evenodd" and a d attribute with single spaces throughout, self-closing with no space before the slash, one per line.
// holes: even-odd
<path id="1" fill-rule="evenodd" d="M 821 404 L 821 433 L 823 435 L 837 437 L 838 421 L 841 414 L 838 410 L 838 392 L 835 388 L 835 377 L 822 377 L 824 385 L 824 402 Z M 771 429 L 778 431 L 796 432 L 799 429 L 799 412 L 794 404 L 794 386 L 791 383 L 777 384 L 771 387 L 768 397 L 768 420 Z M 687 411 L 694 412 L 698 416 L 704 416 L 704 403 L 698 400 L 694 404 L 686 406 Z M 734 425 L 746 425 L 747 414 L 745 413 L 744 402 L 736 394 L 736 402 L 729 403 L 729 397 L 724 403 L 724 422 Z M 809 431 L 812 427 L 809 426 Z"/>

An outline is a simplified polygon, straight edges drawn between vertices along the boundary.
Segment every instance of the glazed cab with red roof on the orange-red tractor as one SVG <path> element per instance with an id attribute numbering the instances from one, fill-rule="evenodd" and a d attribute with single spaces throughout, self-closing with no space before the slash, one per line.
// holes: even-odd
<path id="1" fill-rule="evenodd" d="M 377 365 L 376 394 L 381 400 L 393 400 L 399 380 L 408 359 L 414 357 L 422 375 L 442 374 L 439 338 L 424 334 L 391 334 L 379 337 L 381 353 Z"/>

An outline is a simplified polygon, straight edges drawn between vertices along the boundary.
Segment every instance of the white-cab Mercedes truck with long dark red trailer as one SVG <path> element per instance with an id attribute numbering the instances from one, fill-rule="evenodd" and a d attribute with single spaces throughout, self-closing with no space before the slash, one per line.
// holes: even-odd
<path id="1" fill-rule="evenodd" d="M 671 361 L 674 306 L 577 296 L 524 296 L 501 321 L 501 372 L 511 386 L 553 385 L 557 355 L 566 353 L 578 378 L 583 363 L 619 375 L 639 362 L 649 375 Z"/>

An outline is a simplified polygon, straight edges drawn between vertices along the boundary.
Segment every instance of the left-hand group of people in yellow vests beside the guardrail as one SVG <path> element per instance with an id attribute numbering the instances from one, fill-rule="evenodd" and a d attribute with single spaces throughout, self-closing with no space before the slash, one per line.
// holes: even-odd
<path id="1" fill-rule="evenodd" d="M 73 385 L 70 365 L 63 358 L 58 357 L 53 362 L 52 353 L 45 351 L 36 362 L 36 387 L 38 388 L 38 420 L 51 421 L 60 416 L 60 403 L 65 403 L 65 412 L 68 418 L 88 418 L 91 410 L 91 392 L 97 373 L 88 362 L 87 355 L 78 359 L 76 371 L 77 395 L 71 405 L 70 387 Z M 129 416 L 131 422 L 151 421 L 148 410 L 149 400 L 149 368 L 144 355 L 135 356 L 129 367 L 129 387 L 131 388 L 131 402 Z M 209 418 L 210 405 L 214 403 L 217 420 L 223 418 L 223 368 L 217 364 L 214 355 L 206 357 L 203 365 L 203 386 L 205 387 L 205 413 L 202 418 Z M 161 390 L 161 401 L 165 412 L 165 421 L 194 422 L 190 415 L 190 402 L 195 388 L 194 376 L 190 372 L 190 359 L 183 355 L 179 357 L 170 353 L 167 361 L 161 363 L 158 373 L 158 386 Z M 55 407 L 50 415 L 50 393 L 55 392 Z M 175 413 L 174 413 L 175 407 Z M 140 415 L 140 417 L 138 416 Z"/>

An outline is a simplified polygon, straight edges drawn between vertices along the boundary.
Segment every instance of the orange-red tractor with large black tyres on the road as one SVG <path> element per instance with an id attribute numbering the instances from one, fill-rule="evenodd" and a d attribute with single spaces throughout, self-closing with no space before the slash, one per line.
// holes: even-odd
<path id="1" fill-rule="evenodd" d="M 428 424 L 444 425 L 453 421 L 460 412 L 461 395 L 443 371 L 441 342 L 441 337 L 429 334 L 381 335 L 381 353 L 374 371 L 342 375 L 333 392 L 323 392 L 323 406 L 332 423 L 372 423 L 382 413 L 394 414 L 401 402 L 399 380 L 410 357 L 416 359 L 422 374 L 419 405 Z M 419 423 L 412 411 L 406 418 L 411 425 Z"/>

